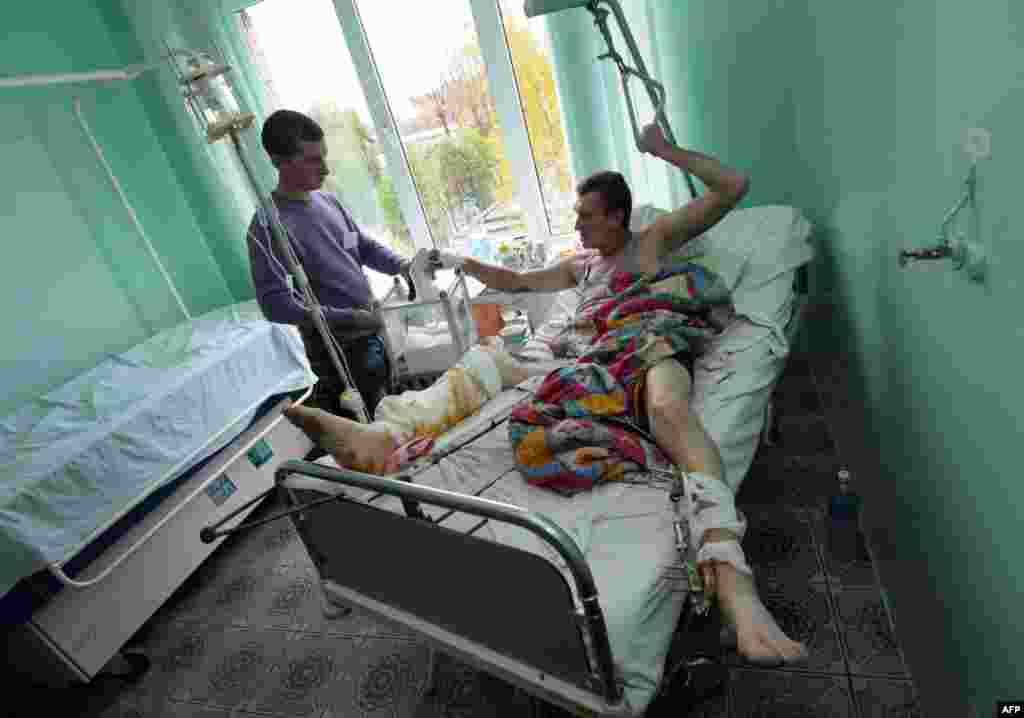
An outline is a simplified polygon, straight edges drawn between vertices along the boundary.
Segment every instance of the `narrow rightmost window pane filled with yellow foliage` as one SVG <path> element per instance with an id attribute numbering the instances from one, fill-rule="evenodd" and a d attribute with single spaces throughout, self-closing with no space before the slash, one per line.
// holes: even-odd
<path id="1" fill-rule="evenodd" d="M 575 178 L 544 16 L 527 19 L 522 0 L 502 0 L 501 10 L 548 225 L 552 235 L 566 235 L 575 222 Z"/>

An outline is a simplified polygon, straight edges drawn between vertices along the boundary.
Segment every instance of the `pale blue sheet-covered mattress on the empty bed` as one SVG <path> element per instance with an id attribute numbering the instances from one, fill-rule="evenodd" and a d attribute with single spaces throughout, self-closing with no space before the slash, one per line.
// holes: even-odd
<path id="1" fill-rule="evenodd" d="M 248 302 L 161 332 L 0 421 L 0 595 L 229 442 L 268 397 L 315 380 L 295 328 Z"/>

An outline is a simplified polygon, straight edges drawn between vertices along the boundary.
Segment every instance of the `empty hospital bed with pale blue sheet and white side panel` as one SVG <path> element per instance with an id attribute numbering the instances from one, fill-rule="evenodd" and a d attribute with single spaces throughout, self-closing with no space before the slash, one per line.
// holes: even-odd
<path id="1" fill-rule="evenodd" d="M 95 677 L 215 548 L 200 529 L 311 449 L 282 411 L 315 380 L 297 331 L 248 302 L 109 356 L 0 421 L 7 664 L 50 685 Z"/>

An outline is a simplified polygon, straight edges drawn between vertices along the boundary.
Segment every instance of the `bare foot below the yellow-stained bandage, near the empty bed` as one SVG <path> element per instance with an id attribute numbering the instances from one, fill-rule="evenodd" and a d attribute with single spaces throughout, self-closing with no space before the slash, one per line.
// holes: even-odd
<path id="1" fill-rule="evenodd" d="M 286 409 L 285 416 L 330 453 L 339 466 L 374 474 L 394 470 L 389 460 L 397 447 L 384 426 L 360 424 L 301 405 Z"/>

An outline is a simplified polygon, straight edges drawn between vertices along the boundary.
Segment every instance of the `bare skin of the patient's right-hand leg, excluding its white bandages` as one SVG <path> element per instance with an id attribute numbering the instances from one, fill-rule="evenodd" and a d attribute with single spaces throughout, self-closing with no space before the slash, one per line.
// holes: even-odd
<path id="1" fill-rule="evenodd" d="M 675 360 L 662 362 L 647 372 L 645 397 L 651 431 L 658 447 L 680 468 L 724 480 L 722 457 L 705 431 L 699 418 L 690 412 L 690 376 Z M 728 531 L 710 530 L 705 541 L 735 540 Z M 760 663 L 795 662 L 807 656 L 807 648 L 791 640 L 758 597 L 754 577 L 729 563 L 716 563 L 706 574 L 720 599 L 726 621 L 735 627 L 737 651 Z"/>

